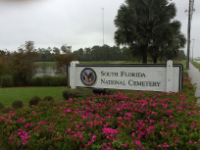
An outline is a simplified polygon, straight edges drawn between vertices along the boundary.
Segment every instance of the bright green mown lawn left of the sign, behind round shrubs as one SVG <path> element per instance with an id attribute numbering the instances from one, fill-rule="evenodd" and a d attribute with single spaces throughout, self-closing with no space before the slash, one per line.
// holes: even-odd
<path id="1" fill-rule="evenodd" d="M 24 105 L 28 106 L 29 100 L 34 96 L 42 99 L 45 96 L 52 96 L 55 100 L 62 100 L 62 91 L 67 88 L 66 86 L 0 88 L 0 102 L 7 107 L 16 100 L 22 100 Z"/>

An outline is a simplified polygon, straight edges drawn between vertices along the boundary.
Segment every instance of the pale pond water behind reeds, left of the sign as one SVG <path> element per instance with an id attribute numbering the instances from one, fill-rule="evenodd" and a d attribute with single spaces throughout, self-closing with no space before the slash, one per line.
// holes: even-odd
<path id="1" fill-rule="evenodd" d="M 43 75 L 49 75 L 49 76 L 55 76 L 55 75 L 64 75 L 66 73 L 62 73 L 62 74 L 56 74 L 56 70 L 53 67 L 39 67 L 36 69 L 36 74 L 35 76 L 43 76 Z"/>

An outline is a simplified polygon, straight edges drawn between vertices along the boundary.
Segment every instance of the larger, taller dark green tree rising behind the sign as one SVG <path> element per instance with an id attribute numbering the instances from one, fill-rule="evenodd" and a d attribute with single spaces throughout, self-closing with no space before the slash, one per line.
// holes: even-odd
<path id="1" fill-rule="evenodd" d="M 147 63 L 149 47 L 163 36 L 170 19 L 176 15 L 169 0 L 126 0 L 115 19 L 117 45 L 128 45 L 142 62 Z"/>

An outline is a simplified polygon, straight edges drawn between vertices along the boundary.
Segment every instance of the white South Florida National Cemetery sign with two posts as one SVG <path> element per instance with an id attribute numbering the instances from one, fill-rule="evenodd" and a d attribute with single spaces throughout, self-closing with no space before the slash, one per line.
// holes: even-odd
<path id="1" fill-rule="evenodd" d="M 173 64 L 79 64 L 69 66 L 69 86 L 143 91 L 178 92 L 182 89 L 183 66 Z"/>

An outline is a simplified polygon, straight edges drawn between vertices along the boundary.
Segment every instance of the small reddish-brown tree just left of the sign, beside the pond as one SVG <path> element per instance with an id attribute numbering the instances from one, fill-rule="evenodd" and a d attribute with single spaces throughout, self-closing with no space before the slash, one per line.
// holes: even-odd
<path id="1" fill-rule="evenodd" d="M 66 74 L 68 76 L 68 65 L 71 61 L 75 60 L 75 55 L 71 53 L 70 46 L 61 46 L 61 51 L 63 54 L 56 54 L 54 56 L 56 60 L 56 73 L 62 73 L 66 71 Z"/>

